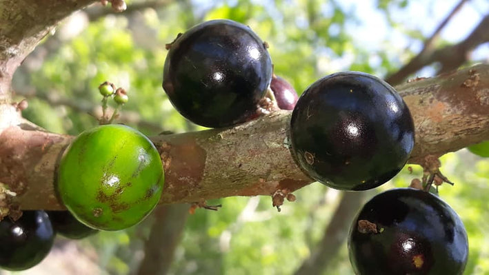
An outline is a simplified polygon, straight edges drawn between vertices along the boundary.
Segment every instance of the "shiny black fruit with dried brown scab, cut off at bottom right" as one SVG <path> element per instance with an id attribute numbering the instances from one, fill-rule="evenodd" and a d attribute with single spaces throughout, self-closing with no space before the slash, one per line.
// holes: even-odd
<path id="1" fill-rule="evenodd" d="M 360 232 L 360 220 L 378 232 Z M 398 188 L 363 206 L 350 228 L 348 252 L 357 275 L 458 275 L 468 260 L 468 239 L 459 216 L 440 198 Z"/>

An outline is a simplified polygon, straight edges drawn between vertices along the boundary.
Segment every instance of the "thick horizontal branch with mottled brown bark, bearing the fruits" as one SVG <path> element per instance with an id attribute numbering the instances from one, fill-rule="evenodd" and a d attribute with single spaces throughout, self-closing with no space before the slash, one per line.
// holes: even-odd
<path id="1" fill-rule="evenodd" d="M 489 139 L 489 65 L 397 89 L 417 131 L 410 163 Z M 290 114 L 279 111 L 230 129 L 152 137 L 165 163 L 161 203 L 271 195 L 308 185 L 312 180 L 299 170 L 287 145 Z M 62 208 L 54 194 L 54 175 L 72 136 L 34 130 L 15 119 L 1 123 L 0 182 L 23 194 L 23 209 Z"/>

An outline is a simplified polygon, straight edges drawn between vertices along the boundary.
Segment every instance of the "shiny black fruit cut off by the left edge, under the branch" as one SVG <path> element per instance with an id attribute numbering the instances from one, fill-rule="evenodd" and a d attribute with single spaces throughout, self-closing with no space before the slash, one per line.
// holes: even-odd
<path id="1" fill-rule="evenodd" d="M 49 254 L 54 230 L 46 212 L 23 211 L 12 222 L 6 217 L 0 222 L 0 269 L 19 271 L 34 267 Z"/>

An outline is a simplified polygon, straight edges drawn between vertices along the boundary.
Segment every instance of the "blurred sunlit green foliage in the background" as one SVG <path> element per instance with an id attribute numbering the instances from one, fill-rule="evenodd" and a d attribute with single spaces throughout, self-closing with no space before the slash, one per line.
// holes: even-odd
<path id="1" fill-rule="evenodd" d="M 130 3 L 137 3 L 131 1 Z M 394 41 L 373 38 L 377 48 L 366 48 L 355 33 L 361 25 L 353 10 L 341 1 L 173 1 L 159 10 L 109 15 L 90 23 L 68 41 L 58 34 L 41 45 L 48 51 L 41 70 L 17 75 L 17 82 L 35 87 L 37 98 L 29 99 L 23 111 L 27 119 L 53 132 L 79 134 L 97 121 L 83 110 L 98 106 L 97 90 L 103 81 L 128 92 L 123 106 L 125 123 L 145 134 L 163 130 L 199 130 L 175 112 L 161 88 L 165 44 L 199 21 L 226 18 L 245 23 L 270 45 L 275 73 L 294 85 L 299 94 L 320 77 L 339 70 L 359 70 L 384 77 L 414 54 Z M 419 43 L 424 32 L 412 30 L 390 17 L 392 9 L 403 10 L 412 1 L 379 0 L 379 10 L 390 23 L 388 31 L 400 32 L 410 43 Z M 375 36 L 375 34 L 372 34 Z M 48 42 L 57 40 L 57 47 Z M 50 104 L 58 99 L 57 104 Z M 59 100 L 62 99 L 62 100 Z M 115 108 L 114 103 L 109 103 Z M 138 121 L 139 120 L 139 121 Z M 149 127 L 156 125 L 157 127 Z M 466 274 L 489 270 L 489 161 L 466 151 L 441 159 L 442 171 L 456 183 L 442 185 L 439 193 L 463 219 L 470 240 Z M 413 166 L 403 170 L 391 184 L 407 186 L 422 176 Z M 312 184 L 295 192 L 297 201 L 286 202 L 280 213 L 271 198 L 223 198 L 218 212 L 197 210 L 190 215 L 175 253 L 172 274 L 293 274 L 315 249 L 338 203 L 335 190 Z M 373 194 L 371 194 L 373 196 Z M 84 245 L 94 247 L 99 265 L 112 274 L 134 274 L 143 240 L 152 219 L 121 232 L 101 232 Z M 348 229 L 345 229 L 348 230 Z M 346 245 L 324 274 L 352 274 Z"/>

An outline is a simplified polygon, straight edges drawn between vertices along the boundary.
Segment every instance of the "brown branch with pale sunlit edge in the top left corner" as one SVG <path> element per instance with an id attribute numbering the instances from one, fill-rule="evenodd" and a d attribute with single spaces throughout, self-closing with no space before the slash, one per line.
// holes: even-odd
<path id="1" fill-rule="evenodd" d="M 94 0 L 0 0 L 0 103 L 21 61 L 63 18 Z"/>

